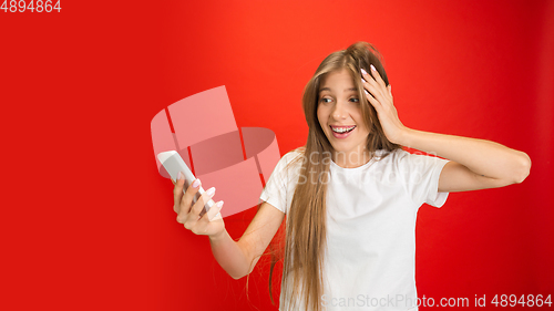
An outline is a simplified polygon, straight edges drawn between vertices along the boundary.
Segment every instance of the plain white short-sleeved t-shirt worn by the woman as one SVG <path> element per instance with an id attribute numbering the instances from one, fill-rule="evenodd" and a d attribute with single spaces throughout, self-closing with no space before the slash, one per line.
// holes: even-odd
<path id="1" fill-rule="evenodd" d="M 290 209 L 298 180 L 306 180 L 299 179 L 301 159 L 285 169 L 299 155 L 283 156 L 260 196 L 283 212 Z M 447 163 L 402 149 L 356 168 L 331 162 L 321 297 L 326 310 L 416 308 L 416 217 L 423 203 L 441 207 L 447 200 L 448 193 L 438 191 Z M 281 310 L 288 301 L 281 292 Z"/>

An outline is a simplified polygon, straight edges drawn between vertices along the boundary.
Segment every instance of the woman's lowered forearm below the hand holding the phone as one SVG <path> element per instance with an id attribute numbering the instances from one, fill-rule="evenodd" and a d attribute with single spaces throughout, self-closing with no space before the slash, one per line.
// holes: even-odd
<path id="1" fill-rule="evenodd" d="M 209 237 L 209 243 L 215 259 L 233 279 L 248 274 L 250 268 L 248 260 L 227 230 L 223 230 L 217 237 Z"/>

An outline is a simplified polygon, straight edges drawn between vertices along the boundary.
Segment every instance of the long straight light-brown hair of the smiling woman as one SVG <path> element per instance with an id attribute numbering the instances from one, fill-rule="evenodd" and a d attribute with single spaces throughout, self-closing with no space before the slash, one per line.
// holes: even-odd
<path id="1" fill-rule="evenodd" d="M 331 72 L 347 70 L 358 89 L 359 99 L 366 99 L 361 85 L 360 69 L 370 72 L 376 66 L 381 77 L 389 85 L 387 73 L 381 63 L 381 55 L 373 45 L 358 42 L 348 49 L 328 55 L 316 70 L 304 90 L 302 107 L 308 123 L 308 139 L 302 151 L 300 176 L 306 183 L 298 183 L 295 189 L 290 211 L 287 215 L 285 258 L 283 267 L 281 296 L 286 298 L 286 310 L 321 310 L 324 293 L 324 253 L 326 247 L 326 194 L 329 182 L 330 157 L 334 148 L 327 139 L 317 118 L 319 85 Z M 360 100 L 361 113 L 370 133 L 367 151 L 375 154 L 378 149 L 389 152 L 399 148 L 387 139 L 377 117 L 376 110 L 365 100 Z M 300 179 L 299 179 L 300 180 Z M 271 276 L 277 258 L 271 258 L 269 293 L 271 296 Z M 284 301 L 284 300 L 281 300 Z"/>

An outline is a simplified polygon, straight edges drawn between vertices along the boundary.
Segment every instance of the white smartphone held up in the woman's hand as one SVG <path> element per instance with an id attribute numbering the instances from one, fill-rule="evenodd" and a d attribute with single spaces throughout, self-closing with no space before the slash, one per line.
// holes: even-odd
<path id="1" fill-rule="evenodd" d="M 178 176 L 179 172 L 184 175 L 185 187 L 183 188 L 183 193 L 188 188 L 188 186 L 191 186 L 193 184 L 194 179 L 196 179 L 196 177 L 194 177 L 193 173 L 191 172 L 191 169 L 188 168 L 186 163 L 183 160 L 183 158 L 181 157 L 181 155 L 176 151 L 158 153 L 157 159 L 162 163 L 165 170 L 167 170 L 167 173 L 170 173 L 170 176 L 174 183 L 177 183 L 177 176 Z M 198 198 L 201 197 L 202 194 L 204 194 L 204 189 L 201 186 L 201 188 L 198 189 L 198 191 L 196 193 L 196 195 L 193 198 L 193 204 L 196 203 L 196 200 L 198 200 Z M 205 212 L 207 212 L 214 205 L 215 205 L 214 200 L 209 199 L 204 205 L 204 209 L 201 211 L 201 217 Z M 217 218 L 217 217 L 215 217 L 215 218 Z M 211 219 L 211 220 L 213 220 L 213 219 Z"/>

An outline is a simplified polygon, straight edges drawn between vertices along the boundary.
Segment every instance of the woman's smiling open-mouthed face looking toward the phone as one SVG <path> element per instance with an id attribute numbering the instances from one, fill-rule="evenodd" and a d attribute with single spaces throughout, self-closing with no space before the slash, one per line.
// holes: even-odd
<path id="1" fill-rule="evenodd" d="M 336 154 L 351 158 L 352 153 L 363 153 L 369 128 L 363 122 L 358 89 L 347 70 L 330 72 L 321 81 L 317 117 Z"/>

